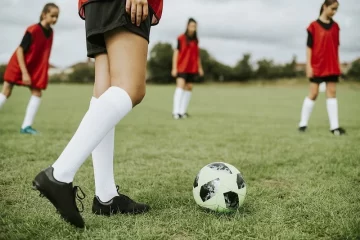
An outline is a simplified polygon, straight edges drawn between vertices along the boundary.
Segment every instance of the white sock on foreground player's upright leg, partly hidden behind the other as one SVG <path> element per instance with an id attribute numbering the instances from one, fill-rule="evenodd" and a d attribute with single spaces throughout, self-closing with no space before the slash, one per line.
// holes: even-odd
<path id="1" fill-rule="evenodd" d="M 91 99 L 90 108 L 96 101 L 95 97 Z M 102 202 L 108 202 L 119 196 L 114 179 L 114 140 L 115 128 L 112 128 L 92 152 L 95 195 Z"/>

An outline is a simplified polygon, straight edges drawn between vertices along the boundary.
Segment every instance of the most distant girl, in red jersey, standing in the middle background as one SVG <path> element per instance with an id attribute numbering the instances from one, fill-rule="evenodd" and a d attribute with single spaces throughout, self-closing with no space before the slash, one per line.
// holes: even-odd
<path id="1" fill-rule="evenodd" d="M 173 118 L 188 117 L 187 109 L 191 99 L 194 79 L 204 71 L 200 59 L 197 23 L 190 18 L 184 34 L 178 37 L 174 50 L 171 75 L 176 77 L 176 89 L 173 102 Z"/>

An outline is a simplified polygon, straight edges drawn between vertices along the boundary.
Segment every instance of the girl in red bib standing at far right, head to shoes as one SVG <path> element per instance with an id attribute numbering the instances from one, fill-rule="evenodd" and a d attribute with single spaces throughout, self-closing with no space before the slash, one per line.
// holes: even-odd
<path id="1" fill-rule="evenodd" d="M 325 0 L 321 5 L 320 17 L 308 27 L 306 75 L 310 78 L 310 92 L 305 98 L 299 131 L 305 132 L 319 93 L 319 84 L 326 83 L 326 104 L 330 121 L 330 131 L 334 135 L 343 135 L 345 130 L 339 127 L 336 83 L 341 75 L 339 60 L 340 28 L 333 20 L 339 7 L 337 0 Z"/>

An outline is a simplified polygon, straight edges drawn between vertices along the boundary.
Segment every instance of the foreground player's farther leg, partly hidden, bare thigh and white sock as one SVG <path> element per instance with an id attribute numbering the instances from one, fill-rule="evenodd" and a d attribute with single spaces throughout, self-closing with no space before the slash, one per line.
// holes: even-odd
<path id="1" fill-rule="evenodd" d="M 95 85 L 90 108 L 97 99 L 111 87 L 110 68 L 107 54 L 95 57 Z M 118 196 L 114 180 L 114 138 L 115 127 L 112 128 L 92 152 L 95 178 L 95 195 L 103 202 Z"/>

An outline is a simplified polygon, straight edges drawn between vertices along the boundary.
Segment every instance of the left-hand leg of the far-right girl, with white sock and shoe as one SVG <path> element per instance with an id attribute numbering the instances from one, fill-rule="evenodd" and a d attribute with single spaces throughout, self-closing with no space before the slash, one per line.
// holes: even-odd
<path id="1" fill-rule="evenodd" d="M 315 100 L 317 98 L 319 94 L 319 84 L 318 83 L 310 83 L 310 91 L 309 91 L 309 95 L 305 98 L 303 106 L 302 106 L 302 110 L 301 110 L 301 120 L 299 123 L 299 129 L 301 131 L 305 131 L 309 119 L 310 119 L 310 115 L 311 112 L 314 108 L 315 105 Z"/>

